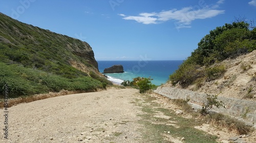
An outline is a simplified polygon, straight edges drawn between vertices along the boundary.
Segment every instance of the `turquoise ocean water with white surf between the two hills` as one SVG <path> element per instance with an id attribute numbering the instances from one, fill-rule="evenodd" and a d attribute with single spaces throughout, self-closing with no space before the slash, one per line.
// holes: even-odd
<path id="1" fill-rule="evenodd" d="M 113 65 L 122 65 L 124 73 L 108 73 L 109 80 L 120 84 L 123 80 L 132 81 L 135 77 L 151 77 L 152 83 L 161 85 L 166 83 L 169 75 L 178 69 L 183 61 L 97 61 L 99 71 Z"/>

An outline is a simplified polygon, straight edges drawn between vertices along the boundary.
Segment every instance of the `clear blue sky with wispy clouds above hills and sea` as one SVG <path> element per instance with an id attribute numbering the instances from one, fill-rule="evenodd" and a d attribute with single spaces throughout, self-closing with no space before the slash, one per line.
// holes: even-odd
<path id="1" fill-rule="evenodd" d="M 256 0 L 0 0 L 0 12 L 88 42 L 95 59 L 184 60 L 234 17 L 256 20 Z"/>

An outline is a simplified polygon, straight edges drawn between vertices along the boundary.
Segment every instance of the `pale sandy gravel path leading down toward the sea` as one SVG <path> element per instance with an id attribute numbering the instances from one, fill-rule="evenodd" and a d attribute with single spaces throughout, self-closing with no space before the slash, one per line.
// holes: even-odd
<path id="1" fill-rule="evenodd" d="M 111 89 L 18 104 L 8 108 L 9 139 L 2 129 L 0 142 L 143 142 L 135 98 L 138 90 Z"/>

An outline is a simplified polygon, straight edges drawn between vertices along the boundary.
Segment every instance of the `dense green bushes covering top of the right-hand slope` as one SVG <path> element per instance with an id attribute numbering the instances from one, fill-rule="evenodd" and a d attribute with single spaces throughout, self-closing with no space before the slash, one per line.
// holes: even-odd
<path id="1" fill-rule="evenodd" d="M 217 79 L 226 72 L 220 62 L 256 49 L 256 28 L 244 21 L 216 27 L 198 43 L 198 48 L 179 66 L 169 80 L 182 88 Z"/>

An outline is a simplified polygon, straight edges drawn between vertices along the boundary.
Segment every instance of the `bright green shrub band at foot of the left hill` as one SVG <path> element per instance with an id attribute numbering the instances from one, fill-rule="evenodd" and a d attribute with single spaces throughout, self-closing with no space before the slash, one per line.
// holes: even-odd
<path id="1" fill-rule="evenodd" d="M 66 78 L 60 75 L 25 68 L 22 65 L 7 65 L 0 62 L 0 95 L 3 96 L 3 87 L 9 86 L 9 96 L 18 97 L 60 90 L 91 91 L 105 88 L 106 84 L 88 76 Z"/>

